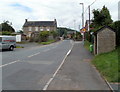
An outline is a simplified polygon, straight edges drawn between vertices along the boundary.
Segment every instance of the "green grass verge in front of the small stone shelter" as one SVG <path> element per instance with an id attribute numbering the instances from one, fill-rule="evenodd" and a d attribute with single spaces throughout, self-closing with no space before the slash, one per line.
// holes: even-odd
<path id="1" fill-rule="evenodd" d="M 104 53 L 95 56 L 92 63 L 97 67 L 100 73 L 109 81 L 109 82 L 120 82 L 120 68 L 118 68 L 118 50 Z M 118 70 L 119 69 L 119 70 Z"/>

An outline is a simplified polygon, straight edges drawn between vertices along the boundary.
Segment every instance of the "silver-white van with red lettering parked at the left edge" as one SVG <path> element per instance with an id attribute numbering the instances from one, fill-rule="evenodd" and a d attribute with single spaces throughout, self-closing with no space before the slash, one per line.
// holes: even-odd
<path id="1" fill-rule="evenodd" d="M 9 49 L 11 51 L 16 47 L 16 36 L 0 36 L 0 49 Z"/>

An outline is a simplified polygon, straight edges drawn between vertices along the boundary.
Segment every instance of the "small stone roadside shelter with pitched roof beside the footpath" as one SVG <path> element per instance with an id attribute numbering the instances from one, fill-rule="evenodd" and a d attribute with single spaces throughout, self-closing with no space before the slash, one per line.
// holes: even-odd
<path id="1" fill-rule="evenodd" d="M 94 32 L 94 54 L 106 53 L 116 47 L 116 33 L 109 26 L 104 26 Z"/>

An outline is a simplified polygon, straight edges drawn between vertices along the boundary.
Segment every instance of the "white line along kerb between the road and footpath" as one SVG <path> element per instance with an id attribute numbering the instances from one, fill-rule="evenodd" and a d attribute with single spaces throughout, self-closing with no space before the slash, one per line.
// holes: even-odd
<path id="1" fill-rule="evenodd" d="M 67 56 L 70 54 L 70 52 L 72 51 L 74 43 L 72 44 L 71 49 L 67 52 L 67 54 L 65 55 L 62 63 L 60 64 L 60 66 L 58 67 L 58 69 L 55 71 L 55 73 L 53 74 L 53 76 L 49 79 L 49 81 L 46 83 L 46 85 L 44 86 L 43 90 L 47 90 L 48 86 L 50 85 L 50 83 L 52 82 L 52 80 L 54 79 L 54 77 L 56 76 L 56 74 L 58 73 L 58 71 L 60 70 L 60 68 L 62 67 L 62 65 L 65 62 L 65 59 L 67 58 Z"/>

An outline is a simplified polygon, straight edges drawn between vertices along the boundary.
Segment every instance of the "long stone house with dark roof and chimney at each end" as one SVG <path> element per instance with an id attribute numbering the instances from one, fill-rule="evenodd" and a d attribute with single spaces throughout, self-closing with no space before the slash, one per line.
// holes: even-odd
<path id="1" fill-rule="evenodd" d="M 56 31 L 57 21 L 28 21 L 25 19 L 23 25 L 23 32 L 27 37 L 31 37 L 31 34 L 38 34 L 41 31 Z"/>

